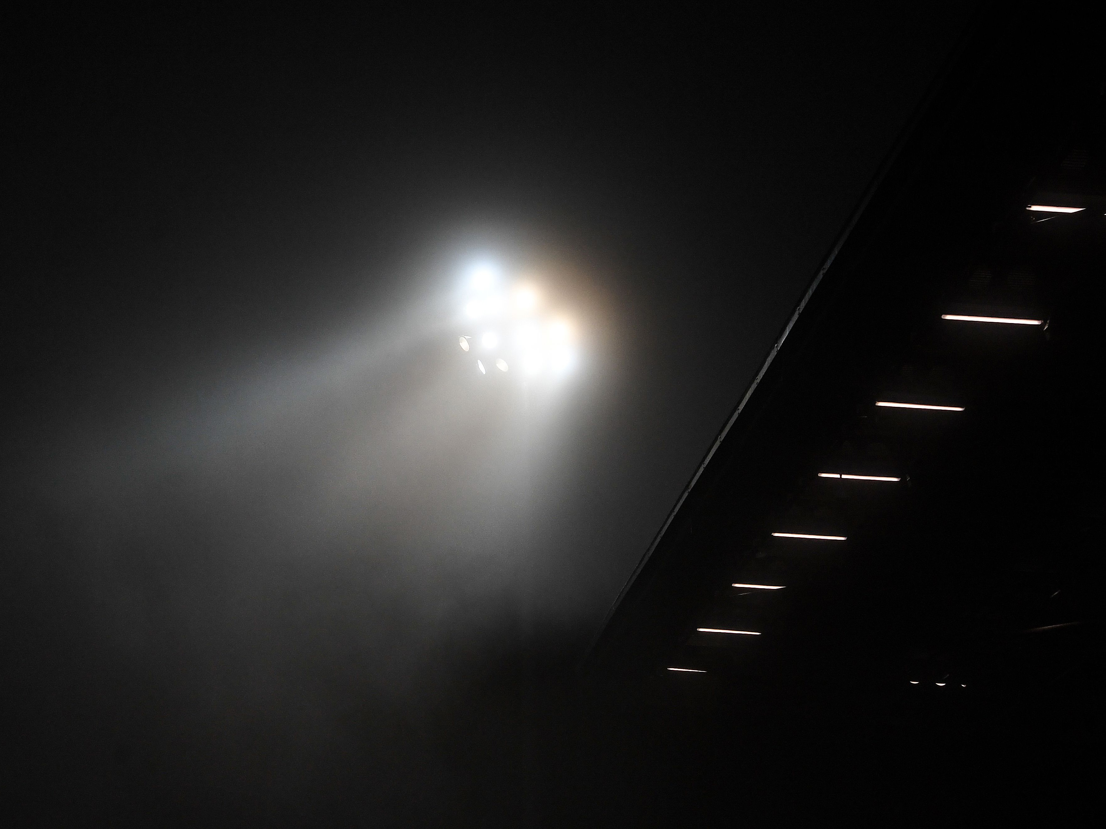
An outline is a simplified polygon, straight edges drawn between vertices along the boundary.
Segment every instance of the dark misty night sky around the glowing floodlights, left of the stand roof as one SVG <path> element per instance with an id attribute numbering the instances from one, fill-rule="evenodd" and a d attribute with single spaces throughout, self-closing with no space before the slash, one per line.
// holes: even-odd
<path id="1" fill-rule="evenodd" d="M 511 714 L 456 701 L 495 699 L 520 579 L 570 665 L 959 7 L 31 27 L 0 579 L 27 802 L 494 812 Z M 526 427 L 445 321 L 478 253 L 585 332 Z"/>

